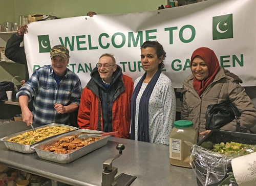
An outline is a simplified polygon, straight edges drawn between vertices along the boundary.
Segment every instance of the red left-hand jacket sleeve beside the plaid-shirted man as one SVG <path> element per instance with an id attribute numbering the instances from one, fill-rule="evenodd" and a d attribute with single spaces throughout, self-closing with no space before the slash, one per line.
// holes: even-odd
<path id="1" fill-rule="evenodd" d="M 91 97 L 90 91 L 85 87 L 82 91 L 80 107 L 78 110 L 77 124 L 79 128 L 89 129 L 90 128 L 90 119 L 91 119 Z"/>

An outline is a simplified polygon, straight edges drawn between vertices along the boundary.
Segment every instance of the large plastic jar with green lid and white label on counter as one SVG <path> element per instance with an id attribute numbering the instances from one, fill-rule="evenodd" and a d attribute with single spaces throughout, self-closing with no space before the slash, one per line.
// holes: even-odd
<path id="1" fill-rule="evenodd" d="M 197 143 L 197 131 L 193 128 L 193 122 L 179 120 L 174 122 L 174 128 L 170 131 L 170 164 L 181 167 L 190 167 L 190 150 Z"/>

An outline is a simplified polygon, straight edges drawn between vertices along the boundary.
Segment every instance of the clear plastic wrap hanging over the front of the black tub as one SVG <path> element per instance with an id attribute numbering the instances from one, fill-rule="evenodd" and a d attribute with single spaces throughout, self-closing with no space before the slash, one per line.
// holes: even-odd
<path id="1" fill-rule="evenodd" d="M 198 145 L 193 145 L 190 165 L 202 185 L 218 183 L 231 169 L 232 156 L 212 152 Z"/>

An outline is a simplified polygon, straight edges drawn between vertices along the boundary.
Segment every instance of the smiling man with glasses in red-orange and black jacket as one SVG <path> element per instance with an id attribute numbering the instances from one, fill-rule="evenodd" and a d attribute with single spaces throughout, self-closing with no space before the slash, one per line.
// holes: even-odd
<path id="1" fill-rule="evenodd" d="M 82 92 L 79 128 L 118 131 L 115 137 L 130 138 L 133 85 L 132 78 L 122 74 L 112 54 L 101 55 Z"/>

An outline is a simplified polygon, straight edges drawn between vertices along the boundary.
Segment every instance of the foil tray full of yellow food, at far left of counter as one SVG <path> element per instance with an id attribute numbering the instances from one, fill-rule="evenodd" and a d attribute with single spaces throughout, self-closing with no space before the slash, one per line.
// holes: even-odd
<path id="1" fill-rule="evenodd" d="M 78 128 L 64 124 L 52 123 L 36 127 L 36 133 L 32 129 L 29 129 L 2 137 L 0 138 L 0 141 L 3 141 L 5 146 L 10 150 L 31 154 L 35 152 L 35 150 L 31 148 L 32 145 L 38 144 L 39 142 L 43 142 L 57 135 L 72 132 L 76 129 Z"/>

